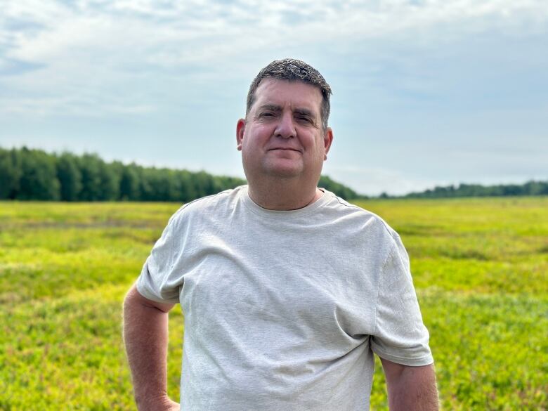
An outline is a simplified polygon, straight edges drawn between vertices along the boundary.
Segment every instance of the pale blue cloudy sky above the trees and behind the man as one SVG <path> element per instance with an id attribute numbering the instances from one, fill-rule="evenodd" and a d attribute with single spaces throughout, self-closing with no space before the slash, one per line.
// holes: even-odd
<path id="1" fill-rule="evenodd" d="M 548 1 L 0 0 L 0 147 L 243 177 L 249 84 L 332 86 L 358 193 L 548 180 Z"/>

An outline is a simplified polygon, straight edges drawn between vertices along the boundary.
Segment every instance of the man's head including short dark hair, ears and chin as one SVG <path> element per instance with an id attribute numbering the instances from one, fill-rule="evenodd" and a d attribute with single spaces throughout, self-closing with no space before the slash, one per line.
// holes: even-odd
<path id="1" fill-rule="evenodd" d="M 236 126 L 250 188 L 284 182 L 315 190 L 333 140 L 330 93 L 321 74 L 299 60 L 274 61 L 259 72 Z"/>

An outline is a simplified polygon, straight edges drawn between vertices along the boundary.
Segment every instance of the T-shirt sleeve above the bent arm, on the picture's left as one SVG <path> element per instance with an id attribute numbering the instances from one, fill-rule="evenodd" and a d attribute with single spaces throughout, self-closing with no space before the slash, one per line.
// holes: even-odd
<path id="1" fill-rule="evenodd" d="M 153 301 L 175 304 L 179 302 L 179 290 L 183 279 L 174 273 L 176 250 L 176 218 L 172 216 L 159 237 L 137 279 L 138 292 Z"/>

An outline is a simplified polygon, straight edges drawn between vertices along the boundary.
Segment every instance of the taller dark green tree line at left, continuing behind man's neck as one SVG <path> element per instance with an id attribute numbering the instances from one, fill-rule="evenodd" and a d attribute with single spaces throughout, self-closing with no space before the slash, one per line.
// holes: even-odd
<path id="1" fill-rule="evenodd" d="M 105 162 L 96 154 L 0 148 L 0 200 L 189 202 L 245 183 L 205 171 Z M 359 197 L 327 176 L 320 187 L 347 200 Z"/>

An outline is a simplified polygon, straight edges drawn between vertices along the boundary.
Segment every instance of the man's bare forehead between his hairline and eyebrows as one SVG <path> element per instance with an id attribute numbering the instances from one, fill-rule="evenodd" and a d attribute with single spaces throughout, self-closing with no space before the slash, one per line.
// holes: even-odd
<path id="1" fill-rule="evenodd" d="M 253 107 L 265 104 L 306 108 L 320 115 L 322 93 L 318 87 L 302 81 L 263 79 L 255 91 Z"/>

